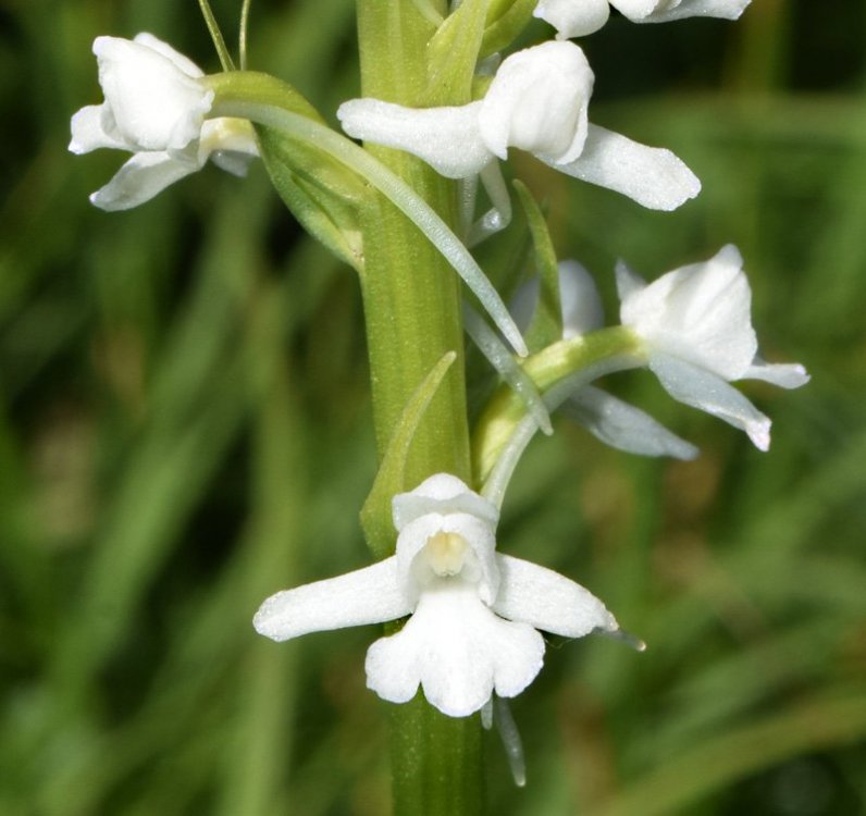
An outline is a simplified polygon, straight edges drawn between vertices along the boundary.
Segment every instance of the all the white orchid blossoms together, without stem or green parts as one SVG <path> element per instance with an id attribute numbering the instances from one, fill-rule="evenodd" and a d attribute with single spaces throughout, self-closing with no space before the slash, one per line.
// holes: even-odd
<path id="1" fill-rule="evenodd" d="M 750 0 L 539 0 L 535 16 L 557 40 L 507 57 L 483 98 L 457 107 L 412 109 L 380 99 L 345 102 L 337 116 L 356 138 L 408 151 L 449 178 L 487 186 L 503 219 L 508 194 L 497 160 L 525 150 L 570 176 L 621 193 L 644 207 L 672 210 L 701 189 L 669 150 L 632 141 L 589 120 L 594 75 L 568 38 L 599 28 L 610 7 L 639 23 L 688 16 L 738 17 Z M 94 42 L 104 102 L 72 119 L 70 149 L 101 147 L 133 153 L 91 196 L 107 210 L 149 200 L 212 159 L 243 174 L 257 157 L 246 120 L 213 118 L 213 91 L 201 70 L 149 34 Z M 354 148 L 357 150 L 357 148 Z M 492 174 L 493 173 L 493 174 Z M 496 181 L 498 178 L 498 182 Z M 589 274 L 560 264 L 565 337 L 603 324 Z M 617 268 L 620 321 L 639 342 L 642 362 L 676 399 L 708 411 L 769 445 L 770 422 L 731 382 L 760 379 L 783 387 L 808 380 L 801 366 L 768 364 L 757 353 L 751 293 L 742 258 L 725 247 L 705 263 L 683 267 L 646 284 Z M 518 323 L 527 325 L 537 285 L 519 294 Z M 683 459 L 696 448 L 643 411 L 593 386 L 568 401 L 569 412 L 596 436 L 627 450 Z M 546 416 L 546 415 L 545 415 Z M 337 578 L 279 592 L 255 617 L 257 631 L 276 641 L 312 631 L 395 621 L 397 633 L 372 644 L 368 685 L 403 703 L 419 688 L 446 715 L 468 716 L 494 695 L 511 697 L 539 673 L 540 631 L 579 638 L 619 633 L 604 604 L 573 581 L 496 552 L 498 509 L 454 475 L 438 473 L 393 498 L 396 553 Z"/>

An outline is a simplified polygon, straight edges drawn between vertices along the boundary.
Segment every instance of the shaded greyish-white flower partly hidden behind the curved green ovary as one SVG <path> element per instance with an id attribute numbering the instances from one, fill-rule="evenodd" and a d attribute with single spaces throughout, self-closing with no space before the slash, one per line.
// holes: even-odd
<path id="1" fill-rule="evenodd" d="M 539 279 L 527 281 L 515 294 L 511 313 L 525 331 L 539 302 Z M 559 301 L 562 339 L 579 337 L 604 325 L 604 310 L 592 275 L 577 261 L 559 262 Z M 610 447 L 641 456 L 694 459 L 697 448 L 668 431 L 648 413 L 592 385 L 576 391 L 560 410 Z"/>

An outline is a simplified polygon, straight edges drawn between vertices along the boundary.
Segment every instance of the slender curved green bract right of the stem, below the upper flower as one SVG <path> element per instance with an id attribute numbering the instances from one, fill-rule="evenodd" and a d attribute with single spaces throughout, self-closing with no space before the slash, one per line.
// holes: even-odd
<path id="1" fill-rule="evenodd" d="M 527 345 L 540 350 L 562 338 L 562 304 L 559 297 L 559 268 L 547 222 L 525 184 L 515 181 L 523 212 L 527 215 L 539 271 L 539 302 L 527 330 Z"/>

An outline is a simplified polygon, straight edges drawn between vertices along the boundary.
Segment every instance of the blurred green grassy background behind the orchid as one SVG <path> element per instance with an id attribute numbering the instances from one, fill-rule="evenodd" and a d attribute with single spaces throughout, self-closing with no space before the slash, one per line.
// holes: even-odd
<path id="1" fill-rule="evenodd" d="M 238 7 L 214 4 L 231 38 Z M 194 0 L 0 0 L 0 813 L 384 815 L 376 630 L 275 645 L 250 627 L 275 590 L 369 562 L 357 284 L 260 166 L 88 205 L 121 157 L 69 154 L 69 119 L 100 98 L 94 37 L 138 30 L 216 67 Z M 775 422 L 765 455 L 644 373 L 610 387 L 698 460 L 564 419 L 534 443 L 500 547 L 587 585 L 650 648 L 549 643 L 512 707 L 529 784 L 492 734 L 491 811 L 864 813 L 866 3 L 618 18 L 582 45 L 592 119 L 670 147 L 704 191 L 647 212 L 517 157 L 561 256 L 613 320 L 616 258 L 652 277 L 735 243 L 765 356 L 813 381 L 747 386 Z M 256 0 L 250 55 L 333 121 L 358 92 L 351 2 Z"/>

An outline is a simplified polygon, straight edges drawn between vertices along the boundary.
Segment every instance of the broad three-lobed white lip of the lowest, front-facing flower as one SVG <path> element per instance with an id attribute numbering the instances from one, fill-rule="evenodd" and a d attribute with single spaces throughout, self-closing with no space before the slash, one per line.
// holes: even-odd
<path id="1" fill-rule="evenodd" d="M 421 596 L 406 626 L 367 653 L 367 685 L 405 703 L 419 684 L 449 717 L 479 710 L 495 692 L 512 697 L 541 670 L 544 640 L 530 626 L 497 618 L 471 586 L 443 582 Z"/>

